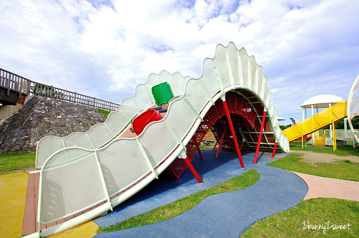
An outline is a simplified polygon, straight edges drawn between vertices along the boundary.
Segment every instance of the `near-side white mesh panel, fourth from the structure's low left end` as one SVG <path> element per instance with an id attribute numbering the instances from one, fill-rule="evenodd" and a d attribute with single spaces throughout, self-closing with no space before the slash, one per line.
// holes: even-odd
<path id="1" fill-rule="evenodd" d="M 185 99 L 181 98 L 174 101 L 169 107 L 166 121 L 182 140 L 196 118 Z"/>

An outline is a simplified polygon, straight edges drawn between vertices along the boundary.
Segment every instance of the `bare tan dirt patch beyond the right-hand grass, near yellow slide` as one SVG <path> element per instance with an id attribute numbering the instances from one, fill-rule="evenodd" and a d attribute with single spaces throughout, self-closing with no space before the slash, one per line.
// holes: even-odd
<path id="1" fill-rule="evenodd" d="M 313 151 L 300 151 L 300 150 L 293 150 L 296 154 L 302 156 L 302 160 L 304 162 L 308 162 L 309 164 L 315 163 L 336 163 L 338 160 L 350 160 L 354 163 L 359 163 L 358 156 L 337 156 L 332 154 L 324 154 L 324 153 L 317 153 Z"/>

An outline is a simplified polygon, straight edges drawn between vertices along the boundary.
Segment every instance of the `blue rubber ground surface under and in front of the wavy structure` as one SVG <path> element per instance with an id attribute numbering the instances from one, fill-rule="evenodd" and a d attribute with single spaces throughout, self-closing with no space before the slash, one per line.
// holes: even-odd
<path id="1" fill-rule="evenodd" d="M 197 193 L 227 181 L 249 169 L 260 174 L 260 180 L 248 188 L 205 198 L 191 210 L 164 222 L 99 233 L 95 237 L 239 237 L 256 220 L 287 210 L 300 203 L 307 194 L 307 184 L 297 175 L 286 170 L 267 166 L 274 161 L 270 153 L 260 152 L 253 165 L 254 153 L 243 152 L 246 169 L 241 168 L 237 153 L 202 151 L 205 161 L 198 153 L 192 164 L 204 181 L 199 184 L 189 169 L 177 181 L 160 175 L 139 193 L 118 205 L 112 213 L 94 220 L 100 227 L 121 222 L 131 216 L 148 212 L 184 196 Z M 286 154 L 278 154 L 283 157 Z"/>

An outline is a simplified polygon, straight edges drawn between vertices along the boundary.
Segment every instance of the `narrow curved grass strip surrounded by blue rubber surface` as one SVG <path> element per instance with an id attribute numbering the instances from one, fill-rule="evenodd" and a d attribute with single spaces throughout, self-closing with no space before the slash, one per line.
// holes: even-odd
<path id="1" fill-rule="evenodd" d="M 115 230 L 123 230 L 132 227 L 139 227 L 141 225 L 162 222 L 190 210 L 208 196 L 247 188 L 248 186 L 255 184 L 258 180 L 258 172 L 251 169 L 246 173 L 238 175 L 226 182 L 218 184 L 217 186 L 178 199 L 170 204 L 166 204 L 147 213 L 140 214 L 137 217 L 131 217 L 108 227 L 99 227 L 97 232 L 112 232 Z"/>

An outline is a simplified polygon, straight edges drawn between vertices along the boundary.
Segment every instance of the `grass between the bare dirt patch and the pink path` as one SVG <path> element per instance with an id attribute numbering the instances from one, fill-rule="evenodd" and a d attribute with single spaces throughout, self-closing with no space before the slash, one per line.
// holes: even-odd
<path id="1" fill-rule="evenodd" d="M 303 174 L 359 181 L 359 163 L 338 161 L 337 164 L 316 163 L 312 165 L 302 161 L 300 155 L 293 153 L 267 165 Z"/>

